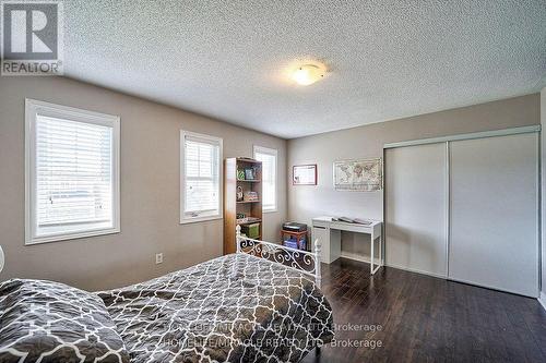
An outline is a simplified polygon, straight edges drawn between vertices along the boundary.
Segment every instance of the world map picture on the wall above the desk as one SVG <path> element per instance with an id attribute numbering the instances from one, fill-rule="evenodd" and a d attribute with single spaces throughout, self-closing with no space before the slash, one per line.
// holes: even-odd
<path id="1" fill-rule="evenodd" d="M 337 191 L 373 192 L 383 187 L 381 158 L 334 161 Z"/>

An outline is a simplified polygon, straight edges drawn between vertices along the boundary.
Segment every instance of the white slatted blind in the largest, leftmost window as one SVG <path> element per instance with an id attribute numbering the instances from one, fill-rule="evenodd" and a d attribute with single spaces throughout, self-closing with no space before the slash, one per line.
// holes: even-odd
<path id="1" fill-rule="evenodd" d="M 37 234 L 114 226 L 112 128 L 36 116 Z"/>

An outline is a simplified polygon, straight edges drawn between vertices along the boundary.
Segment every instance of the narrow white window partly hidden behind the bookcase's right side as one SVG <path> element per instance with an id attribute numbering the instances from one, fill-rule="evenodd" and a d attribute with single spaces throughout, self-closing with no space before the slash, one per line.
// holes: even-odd
<path id="1" fill-rule="evenodd" d="M 254 159 L 262 161 L 262 209 L 276 211 L 276 150 L 254 145 Z"/>

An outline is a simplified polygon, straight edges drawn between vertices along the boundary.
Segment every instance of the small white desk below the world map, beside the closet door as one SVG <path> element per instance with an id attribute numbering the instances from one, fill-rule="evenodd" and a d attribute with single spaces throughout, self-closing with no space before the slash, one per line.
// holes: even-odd
<path id="1" fill-rule="evenodd" d="M 382 222 L 370 220 L 371 225 L 347 223 L 343 221 L 334 221 L 332 217 L 317 217 L 312 219 L 312 241 L 319 239 L 322 244 L 321 261 L 327 264 L 340 258 L 341 253 L 341 231 L 349 231 L 356 233 L 370 234 L 370 274 L 373 275 L 383 266 L 383 238 Z M 375 263 L 373 242 L 379 240 L 379 263 Z M 314 247 L 314 246 L 313 246 Z M 377 265 L 377 266 L 376 266 Z"/>

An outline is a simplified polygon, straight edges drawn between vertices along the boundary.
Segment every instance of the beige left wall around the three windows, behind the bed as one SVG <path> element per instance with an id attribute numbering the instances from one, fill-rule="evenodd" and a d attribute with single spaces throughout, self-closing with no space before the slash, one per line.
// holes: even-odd
<path id="1" fill-rule="evenodd" d="M 24 245 L 25 97 L 121 117 L 121 233 Z M 278 149 L 278 211 L 264 214 L 276 240 L 286 217 L 286 142 L 194 113 L 60 77 L 0 80 L 0 280 L 52 279 L 106 289 L 180 269 L 223 252 L 222 220 L 179 225 L 179 130 L 224 138 L 224 157 Z M 164 263 L 155 265 L 155 253 Z"/>

